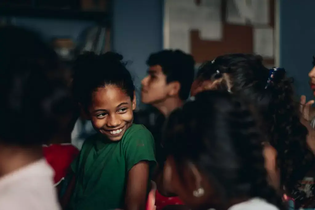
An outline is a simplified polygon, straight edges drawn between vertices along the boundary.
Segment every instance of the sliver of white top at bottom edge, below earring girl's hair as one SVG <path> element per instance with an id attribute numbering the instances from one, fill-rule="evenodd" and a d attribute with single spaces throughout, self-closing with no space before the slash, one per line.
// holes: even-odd
<path id="1" fill-rule="evenodd" d="M 279 210 L 278 207 L 260 198 L 253 198 L 248 201 L 238 203 L 228 210 Z"/>

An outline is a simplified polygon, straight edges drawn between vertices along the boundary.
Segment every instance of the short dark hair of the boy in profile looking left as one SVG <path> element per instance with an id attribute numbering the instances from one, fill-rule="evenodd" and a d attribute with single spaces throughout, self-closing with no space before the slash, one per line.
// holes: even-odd
<path id="1" fill-rule="evenodd" d="M 151 54 L 146 64 L 161 66 L 166 75 L 166 82 L 178 81 L 180 83 L 179 98 L 188 99 L 195 75 L 195 60 L 190 54 L 180 50 L 163 50 Z"/>

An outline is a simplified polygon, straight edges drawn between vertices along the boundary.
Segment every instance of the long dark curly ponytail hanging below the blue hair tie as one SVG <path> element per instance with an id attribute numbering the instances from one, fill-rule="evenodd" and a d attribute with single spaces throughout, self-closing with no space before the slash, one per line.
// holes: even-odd
<path id="1" fill-rule="evenodd" d="M 298 103 L 294 102 L 293 79 L 282 71 L 276 72 L 265 116 L 270 131 L 270 144 L 278 152 L 281 185 L 289 191 L 312 166 L 314 155 L 306 143 L 307 129 L 300 122 Z"/>

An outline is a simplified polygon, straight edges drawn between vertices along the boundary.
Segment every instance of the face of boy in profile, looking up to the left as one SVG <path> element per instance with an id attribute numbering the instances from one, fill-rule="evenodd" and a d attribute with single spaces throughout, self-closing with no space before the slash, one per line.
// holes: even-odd
<path id="1" fill-rule="evenodd" d="M 170 93 L 170 85 L 160 65 L 150 66 L 148 75 L 141 81 L 141 101 L 145 104 L 163 102 Z"/>

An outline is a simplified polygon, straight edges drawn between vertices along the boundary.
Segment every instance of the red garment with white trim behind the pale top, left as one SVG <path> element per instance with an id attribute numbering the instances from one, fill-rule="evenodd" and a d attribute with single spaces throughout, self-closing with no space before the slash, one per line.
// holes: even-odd
<path id="1" fill-rule="evenodd" d="M 79 150 L 71 144 L 54 144 L 43 146 L 44 157 L 54 169 L 54 182 L 58 183 L 68 172 L 70 164 L 79 154 Z"/>

